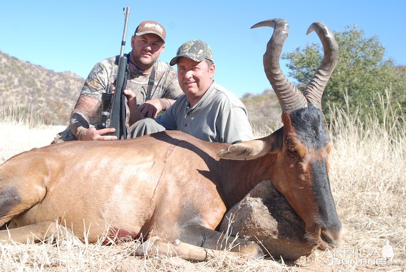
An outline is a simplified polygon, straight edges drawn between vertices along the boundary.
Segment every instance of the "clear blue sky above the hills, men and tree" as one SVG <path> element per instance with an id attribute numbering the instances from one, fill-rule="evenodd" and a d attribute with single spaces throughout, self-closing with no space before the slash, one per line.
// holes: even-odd
<path id="1" fill-rule="evenodd" d="M 119 54 L 124 26 L 122 9 L 127 6 L 131 11 L 126 52 L 131 50 L 130 37 L 140 21 L 156 20 L 167 32 L 161 60 L 170 61 L 182 43 L 198 38 L 213 50 L 216 82 L 238 97 L 270 88 L 262 55 L 272 28 L 250 29 L 270 18 L 285 18 L 290 25 L 282 52 L 319 43 L 316 33 L 306 35 L 314 21 L 324 22 L 333 31 L 356 24 L 366 37 L 379 37 L 386 48 L 386 58 L 406 65 L 406 1 L 392 0 L 4 0 L 0 3 L 0 50 L 56 72 L 69 70 L 86 77 L 97 61 Z M 286 63 L 282 61 L 281 66 L 287 74 Z"/>

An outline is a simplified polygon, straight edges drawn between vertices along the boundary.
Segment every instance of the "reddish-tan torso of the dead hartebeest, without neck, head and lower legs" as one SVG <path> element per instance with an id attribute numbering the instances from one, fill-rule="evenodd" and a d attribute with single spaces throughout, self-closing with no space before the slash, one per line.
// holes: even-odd
<path id="1" fill-rule="evenodd" d="M 16 188 L 22 207 L 13 215 L 28 209 L 13 218 L 15 226 L 58 219 L 83 238 L 85 222 L 94 242 L 107 223 L 134 236 L 153 228 L 171 239 L 171 228 L 189 216 L 199 215 L 191 220 L 211 229 L 221 221 L 226 207 L 220 184 L 210 180 L 218 173 L 209 171 L 219 149 L 176 131 L 126 141 L 66 142 L 4 163 L 0 190 Z M 1 217 L 0 224 L 9 219 Z"/>

